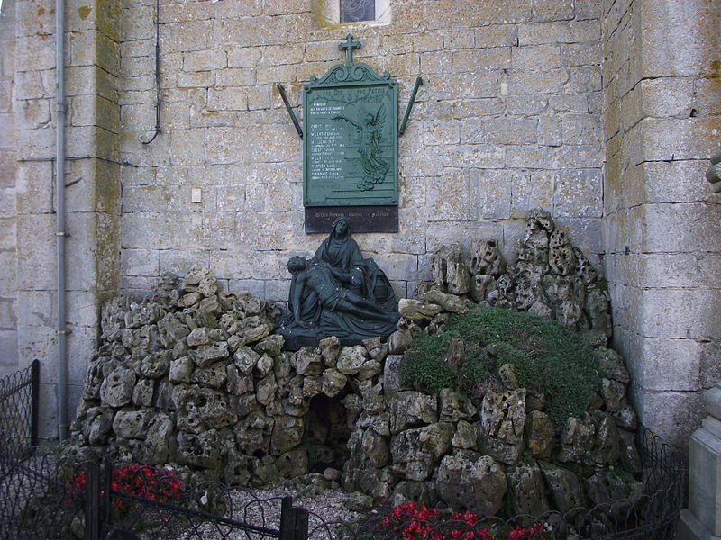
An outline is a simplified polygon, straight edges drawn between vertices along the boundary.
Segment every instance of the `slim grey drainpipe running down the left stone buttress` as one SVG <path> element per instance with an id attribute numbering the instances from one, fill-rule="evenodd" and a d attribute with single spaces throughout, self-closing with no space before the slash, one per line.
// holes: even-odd
<path id="1" fill-rule="evenodd" d="M 58 436 L 68 438 L 68 329 L 65 314 L 65 1 L 55 0 L 56 86 L 56 219 L 58 228 Z"/>

